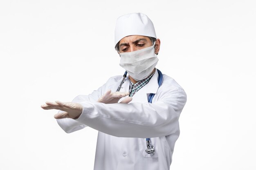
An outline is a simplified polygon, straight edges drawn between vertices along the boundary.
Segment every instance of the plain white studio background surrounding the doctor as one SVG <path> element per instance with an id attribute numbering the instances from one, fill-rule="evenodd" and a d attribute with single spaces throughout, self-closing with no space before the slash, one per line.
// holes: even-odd
<path id="1" fill-rule="evenodd" d="M 120 15 L 146 13 L 157 68 L 186 91 L 171 170 L 255 170 L 254 0 L 1 0 L 0 169 L 92 170 L 97 131 L 66 134 L 45 101 L 122 75 Z"/>

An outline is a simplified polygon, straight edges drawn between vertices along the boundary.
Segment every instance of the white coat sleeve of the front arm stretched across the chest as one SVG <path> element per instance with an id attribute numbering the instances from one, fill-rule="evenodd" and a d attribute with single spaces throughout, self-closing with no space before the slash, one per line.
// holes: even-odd
<path id="1" fill-rule="evenodd" d="M 177 86 L 162 85 L 154 103 L 103 104 L 81 102 L 77 121 L 117 137 L 161 137 L 179 131 L 186 93 Z M 154 99 L 153 99 L 154 100 Z"/>

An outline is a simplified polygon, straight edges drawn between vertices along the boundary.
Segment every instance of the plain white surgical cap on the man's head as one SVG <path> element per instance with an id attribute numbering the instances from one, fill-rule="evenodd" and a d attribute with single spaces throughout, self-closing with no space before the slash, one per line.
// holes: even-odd
<path id="1" fill-rule="evenodd" d="M 143 35 L 157 38 L 153 22 L 144 13 L 130 13 L 117 18 L 115 45 L 128 35 Z"/>

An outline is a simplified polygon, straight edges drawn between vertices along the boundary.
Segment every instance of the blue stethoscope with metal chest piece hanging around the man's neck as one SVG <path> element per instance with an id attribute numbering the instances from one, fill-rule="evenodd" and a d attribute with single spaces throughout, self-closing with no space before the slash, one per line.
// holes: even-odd
<path id="1" fill-rule="evenodd" d="M 158 86 L 160 86 L 163 82 L 163 74 L 158 69 L 157 69 L 157 73 L 158 73 L 157 82 L 158 82 Z M 122 85 L 124 84 L 125 80 L 127 79 L 126 75 L 127 75 L 127 71 L 124 73 L 124 77 L 121 81 L 121 84 L 118 86 L 117 91 L 120 91 Z M 154 96 L 155 96 L 154 93 L 150 93 L 150 95 L 148 96 L 148 103 L 152 103 L 152 99 Z M 151 157 L 153 157 L 155 155 L 155 148 L 151 144 L 150 138 L 146 138 L 146 146 L 147 146 L 147 148 L 146 148 L 145 152 L 147 154 L 150 154 Z"/>

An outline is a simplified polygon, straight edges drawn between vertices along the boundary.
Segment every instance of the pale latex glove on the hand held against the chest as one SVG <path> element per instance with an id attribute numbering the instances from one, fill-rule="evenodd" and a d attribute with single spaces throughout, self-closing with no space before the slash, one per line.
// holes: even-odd
<path id="1" fill-rule="evenodd" d="M 105 103 L 105 104 L 117 103 L 119 99 L 128 95 L 129 95 L 129 92 L 116 91 L 112 93 L 111 90 L 108 90 L 103 96 L 101 96 L 98 99 L 98 102 Z M 132 97 L 127 97 L 124 100 L 122 100 L 120 103 L 129 103 L 130 101 L 132 101 Z"/>

